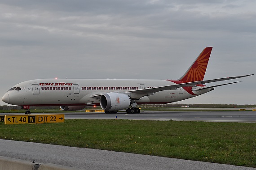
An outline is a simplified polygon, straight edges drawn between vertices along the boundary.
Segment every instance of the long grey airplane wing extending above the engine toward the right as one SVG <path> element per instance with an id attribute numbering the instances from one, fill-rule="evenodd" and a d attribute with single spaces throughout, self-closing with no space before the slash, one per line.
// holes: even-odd
<path id="1" fill-rule="evenodd" d="M 179 87 L 191 87 L 191 86 L 205 84 L 205 83 L 237 79 L 237 78 L 242 78 L 242 77 L 247 77 L 247 76 L 252 76 L 252 75 L 253 74 L 248 74 L 245 76 L 234 76 L 234 77 L 226 77 L 226 78 L 219 78 L 219 79 L 212 79 L 212 80 L 204 80 L 204 81 L 193 81 L 193 82 L 188 82 L 188 83 L 181 83 L 181 84 L 176 84 L 176 85 L 166 85 L 166 86 L 154 87 L 154 88 L 149 88 L 149 89 L 130 90 L 129 92 L 132 92 L 132 93 L 156 93 L 156 92 L 163 91 L 163 90 L 176 90 Z M 230 84 L 232 84 L 232 83 L 230 83 Z M 207 87 L 207 88 L 209 88 L 209 87 Z"/>

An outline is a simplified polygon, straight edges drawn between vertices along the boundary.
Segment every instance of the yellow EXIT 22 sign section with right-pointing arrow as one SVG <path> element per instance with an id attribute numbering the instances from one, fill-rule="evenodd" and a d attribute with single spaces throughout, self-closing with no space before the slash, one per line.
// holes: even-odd
<path id="1" fill-rule="evenodd" d="M 64 114 L 45 114 L 45 115 L 36 115 L 37 123 L 62 123 L 64 122 Z"/>

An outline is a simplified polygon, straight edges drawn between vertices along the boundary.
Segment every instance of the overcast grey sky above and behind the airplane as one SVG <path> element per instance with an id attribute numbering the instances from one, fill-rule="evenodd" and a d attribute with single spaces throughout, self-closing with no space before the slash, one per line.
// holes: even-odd
<path id="1" fill-rule="evenodd" d="M 205 80 L 256 74 L 255 7 L 255 0 L 0 0 L 0 98 L 41 78 L 176 80 L 204 47 L 213 47 Z M 179 103 L 256 104 L 256 75 L 239 81 Z"/>

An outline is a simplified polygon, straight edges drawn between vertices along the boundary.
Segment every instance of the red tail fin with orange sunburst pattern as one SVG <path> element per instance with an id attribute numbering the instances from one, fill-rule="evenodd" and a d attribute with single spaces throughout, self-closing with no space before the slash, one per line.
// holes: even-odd
<path id="1" fill-rule="evenodd" d="M 190 68 L 181 76 L 180 81 L 182 82 L 192 82 L 192 81 L 202 81 L 207 64 L 212 52 L 212 47 L 206 47 L 203 49 L 201 54 L 197 57 Z"/>

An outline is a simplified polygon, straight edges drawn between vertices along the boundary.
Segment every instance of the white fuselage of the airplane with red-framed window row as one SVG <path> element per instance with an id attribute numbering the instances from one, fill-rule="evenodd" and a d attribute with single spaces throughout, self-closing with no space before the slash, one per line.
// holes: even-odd
<path id="1" fill-rule="evenodd" d="M 117 79 L 38 79 L 15 85 L 19 89 L 9 90 L 2 100 L 13 105 L 28 106 L 92 106 L 100 105 L 93 95 L 110 92 L 125 92 L 166 85 L 175 85 L 167 80 L 117 80 Z M 191 87 L 196 89 L 198 87 Z M 176 90 L 164 90 L 146 94 L 135 102 L 137 104 L 165 104 L 207 93 L 210 89 L 186 91 L 180 87 Z"/>

